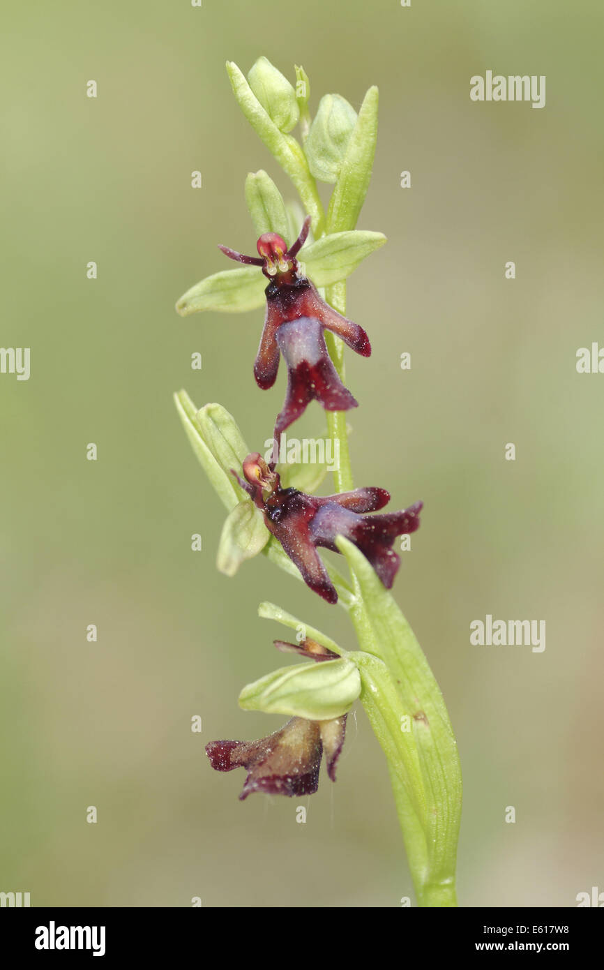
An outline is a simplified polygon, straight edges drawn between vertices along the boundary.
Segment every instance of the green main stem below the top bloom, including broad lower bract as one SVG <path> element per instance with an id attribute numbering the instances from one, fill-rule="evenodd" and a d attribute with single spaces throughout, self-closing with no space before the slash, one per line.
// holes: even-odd
<path id="1" fill-rule="evenodd" d="M 326 292 L 328 303 L 346 312 L 346 283 Z M 344 346 L 333 334 L 327 344 L 344 379 Z M 327 412 L 328 431 L 338 442 L 338 492 L 354 488 L 346 414 Z M 411 878 L 421 907 L 455 907 L 455 869 L 461 810 L 461 772 L 455 736 L 438 684 L 406 620 L 397 610 L 396 647 L 392 637 L 376 635 L 363 592 L 351 568 L 353 598 L 342 602 L 351 614 L 360 643 L 361 702 L 388 761 Z M 408 726 L 403 730 L 401 725 Z"/>

